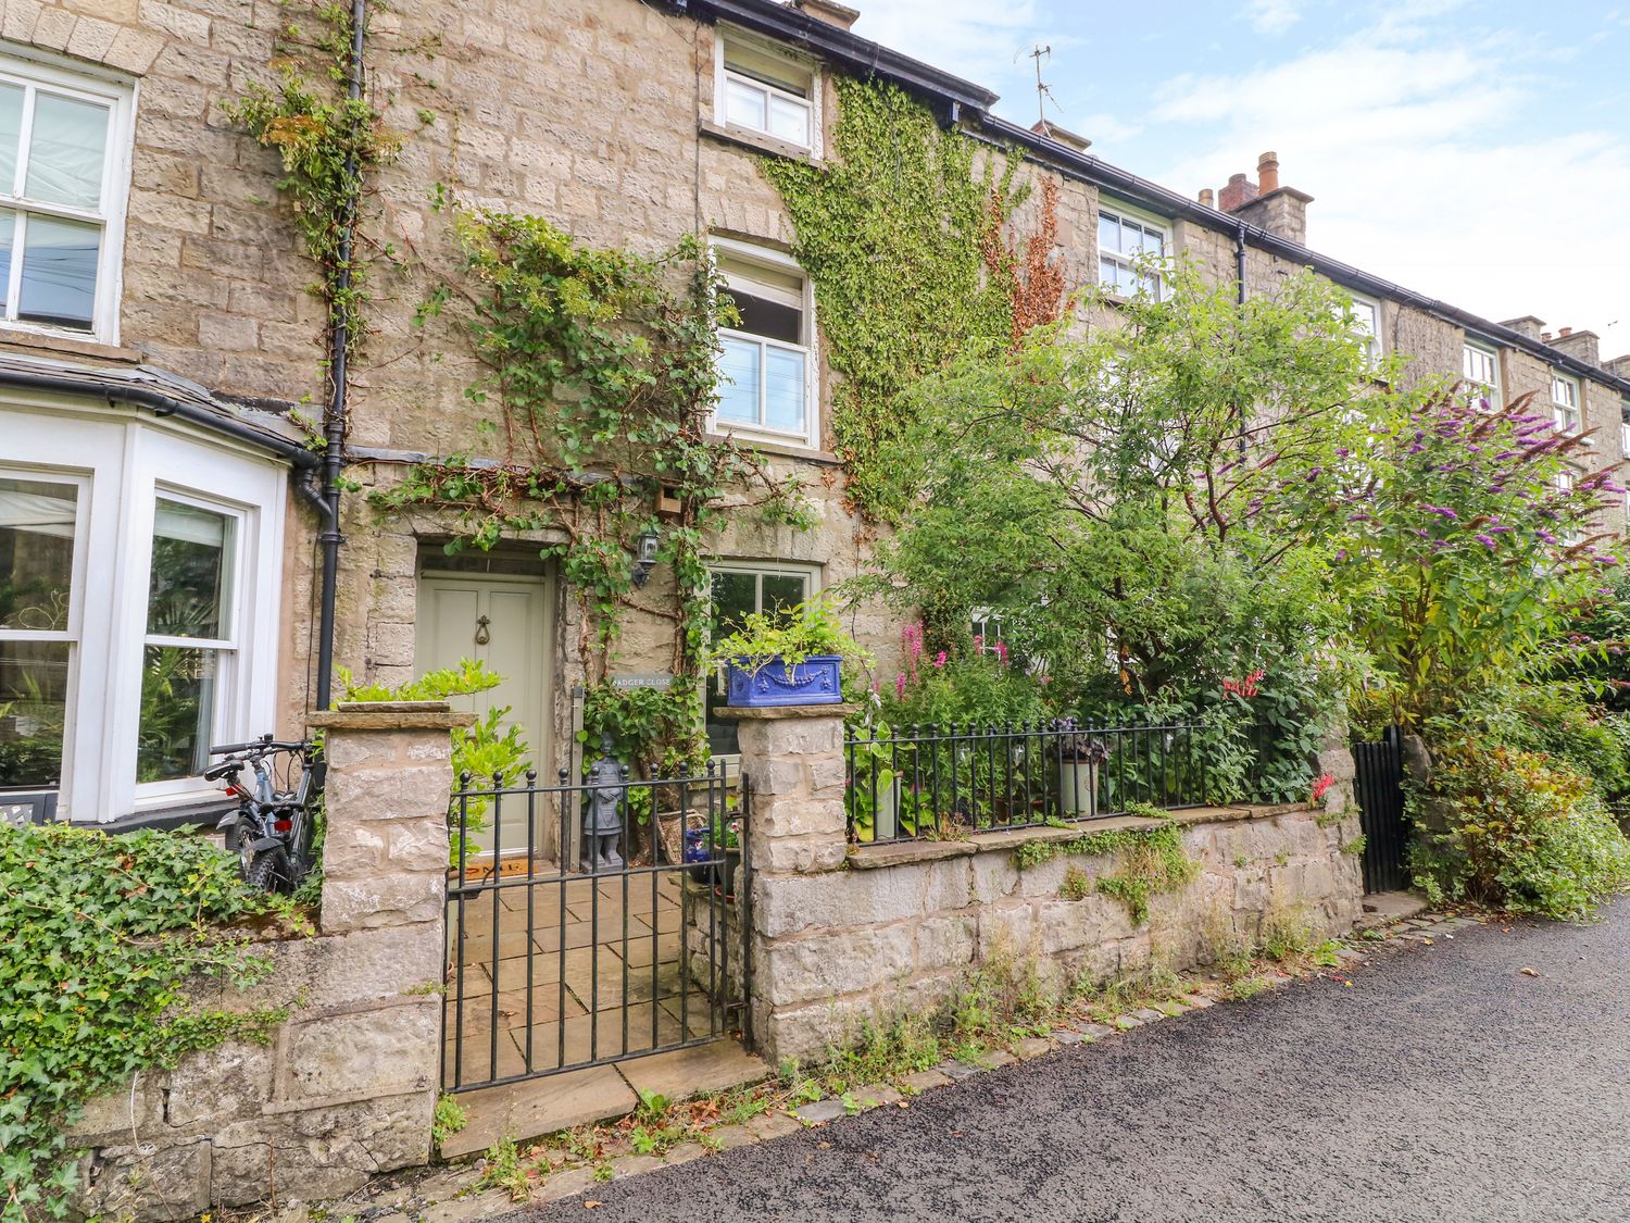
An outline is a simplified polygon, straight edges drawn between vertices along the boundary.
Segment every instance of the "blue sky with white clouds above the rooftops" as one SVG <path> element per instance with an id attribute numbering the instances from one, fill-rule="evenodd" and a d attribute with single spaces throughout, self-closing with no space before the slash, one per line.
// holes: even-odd
<path id="1" fill-rule="evenodd" d="M 1630 0 L 851 0 L 854 33 L 1175 191 L 1314 196 L 1314 249 L 1630 352 Z"/>

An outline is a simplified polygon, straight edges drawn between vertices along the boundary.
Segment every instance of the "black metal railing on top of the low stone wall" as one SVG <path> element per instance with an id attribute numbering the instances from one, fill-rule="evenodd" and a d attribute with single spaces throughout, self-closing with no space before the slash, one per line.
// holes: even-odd
<path id="1" fill-rule="evenodd" d="M 851 841 L 939 838 L 1206 801 L 1192 722 L 856 729 L 844 740 Z"/>

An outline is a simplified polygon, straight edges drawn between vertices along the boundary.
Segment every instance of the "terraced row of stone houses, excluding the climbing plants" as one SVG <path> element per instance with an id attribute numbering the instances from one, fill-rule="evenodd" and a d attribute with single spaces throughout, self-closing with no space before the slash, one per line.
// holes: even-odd
<path id="1" fill-rule="evenodd" d="M 1604 360 L 1591 331 L 1478 318 L 1324 258 L 1309 246 L 1312 201 L 1271 153 L 1216 194 L 1143 181 L 1066 130 L 998 117 L 988 90 L 857 38 L 854 11 L 830 0 L 359 5 L 357 106 L 378 111 L 391 153 L 367 166 L 355 219 L 368 300 L 349 321 L 365 334 L 336 347 L 331 305 L 310 292 L 311 214 L 280 188 L 279 148 L 298 132 L 274 116 L 272 139 L 256 139 L 243 111 L 285 70 L 290 20 L 319 42 L 321 16 L 297 8 L 0 0 L 10 819 L 204 819 L 220 799 L 200 778 L 207 745 L 298 734 L 337 690 L 334 665 L 394 685 L 484 660 L 505 678 L 481 700 L 512 708 L 553 773 L 585 688 L 660 690 L 683 670 L 676 582 L 706 582 L 714 621 L 730 621 L 861 571 L 875 527 L 848 484 L 852 450 L 835 427 L 848 383 L 830 339 L 852 320 L 828 316 L 835 285 L 800 264 L 792 179 L 774 168 L 833 166 L 844 108 L 895 90 L 970 174 L 1029 186 L 1002 240 L 1046 233 L 1066 287 L 1162 292 L 1139 256 L 1188 256 L 1247 297 L 1312 267 L 1351 294 L 1377 359 L 1407 354 L 1400 377 L 1532 393 L 1589 430 L 1604 465 L 1627 453 L 1630 357 Z M 337 82 L 310 77 L 336 98 L 354 67 L 342 33 L 306 47 L 339 65 Z M 489 548 L 448 553 L 469 497 L 409 496 L 414 481 L 452 458 L 502 471 L 515 445 L 481 427 L 491 396 L 471 395 L 492 373 L 468 325 L 479 294 L 437 290 L 474 284 L 460 209 L 538 217 L 585 249 L 711 248 L 738 320 L 719 336 L 725 382 L 707 429 L 751 444 L 761 475 L 800 476 L 807 522 L 766 517 L 751 478 L 734 484 L 698 579 L 673 543 L 691 520 L 657 481 L 650 525 L 605 541 L 649 577 L 618 594 L 615 642 L 570 564 L 615 465 L 567 473 L 559 523 L 489 517 Z M 862 615 L 861 636 L 887 647 L 883 623 Z M 709 726 L 717 755 L 734 734 Z"/>

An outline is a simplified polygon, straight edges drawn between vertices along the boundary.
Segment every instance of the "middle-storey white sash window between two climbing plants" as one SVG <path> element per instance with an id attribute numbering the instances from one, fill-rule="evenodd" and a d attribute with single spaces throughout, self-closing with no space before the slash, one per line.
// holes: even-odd
<path id="1" fill-rule="evenodd" d="M 719 429 L 815 445 L 808 280 L 789 256 L 724 238 L 714 259 L 740 315 L 719 333 Z"/>

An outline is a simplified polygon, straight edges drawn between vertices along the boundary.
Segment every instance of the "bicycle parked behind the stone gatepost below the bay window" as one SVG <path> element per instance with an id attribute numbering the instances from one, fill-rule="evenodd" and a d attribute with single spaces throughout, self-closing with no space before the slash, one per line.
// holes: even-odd
<path id="1" fill-rule="evenodd" d="M 249 744 L 222 744 L 209 750 L 225 755 L 204 770 L 209 781 L 225 781 L 238 809 L 215 828 L 227 837 L 228 853 L 238 854 L 243 879 L 262 892 L 292 895 L 311 871 L 313 799 L 321 789 L 321 762 L 310 740 L 280 742 L 269 734 Z M 298 775 L 295 773 L 298 766 Z M 244 783 L 243 771 L 254 778 Z"/>

